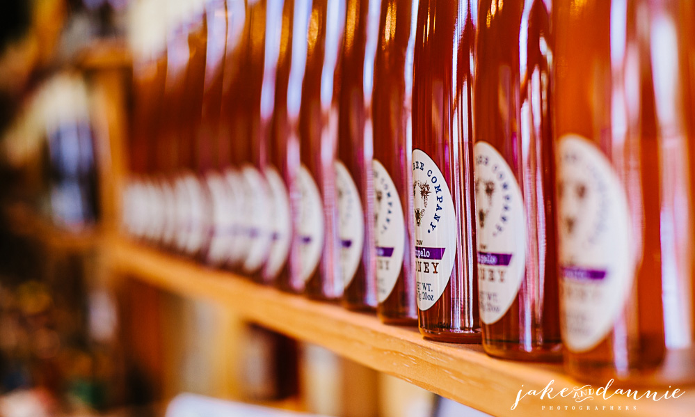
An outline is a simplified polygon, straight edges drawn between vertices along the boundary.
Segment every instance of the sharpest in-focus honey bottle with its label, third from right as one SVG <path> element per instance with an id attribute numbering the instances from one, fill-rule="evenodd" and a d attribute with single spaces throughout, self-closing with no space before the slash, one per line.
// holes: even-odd
<path id="1" fill-rule="evenodd" d="M 413 63 L 413 206 L 418 324 L 477 343 L 471 96 L 477 7 L 420 2 Z"/>

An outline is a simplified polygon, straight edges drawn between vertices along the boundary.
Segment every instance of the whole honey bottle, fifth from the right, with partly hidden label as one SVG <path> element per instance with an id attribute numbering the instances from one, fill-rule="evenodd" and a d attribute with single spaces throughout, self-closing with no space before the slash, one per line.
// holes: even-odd
<path id="1" fill-rule="evenodd" d="M 376 307 L 372 90 L 381 0 L 346 0 L 338 117 L 338 203 L 343 305 Z"/>

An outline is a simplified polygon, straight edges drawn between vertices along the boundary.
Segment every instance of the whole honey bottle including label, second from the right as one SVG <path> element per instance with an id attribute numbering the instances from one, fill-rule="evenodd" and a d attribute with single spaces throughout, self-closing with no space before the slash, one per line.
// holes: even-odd
<path id="1" fill-rule="evenodd" d="M 483 346 L 559 361 L 550 0 L 480 3 L 475 194 Z"/>

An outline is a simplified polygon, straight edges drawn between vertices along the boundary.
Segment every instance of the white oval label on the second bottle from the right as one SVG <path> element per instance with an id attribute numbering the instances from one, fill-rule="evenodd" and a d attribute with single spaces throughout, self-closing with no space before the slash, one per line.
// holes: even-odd
<path id="1" fill-rule="evenodd" d="M 516 299 L 526 272 L 524 200 L 500 152 L 478 142 L 473 153 L 480 320 L 493 324 Z"/>

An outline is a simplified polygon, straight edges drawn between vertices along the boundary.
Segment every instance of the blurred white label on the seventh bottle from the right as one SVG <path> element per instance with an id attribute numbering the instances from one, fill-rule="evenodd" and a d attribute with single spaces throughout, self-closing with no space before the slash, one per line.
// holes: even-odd
<path id="1" fill-rule="evenodd" d="M 285 265 L 291 239 L 291 224 L 289 214 L 289 195 L 285 182 L 273 166 L 266 168 L 266 180 L 271 196 L 271 252 L 265 266 L 266 276 L 274 278 Z"/>

